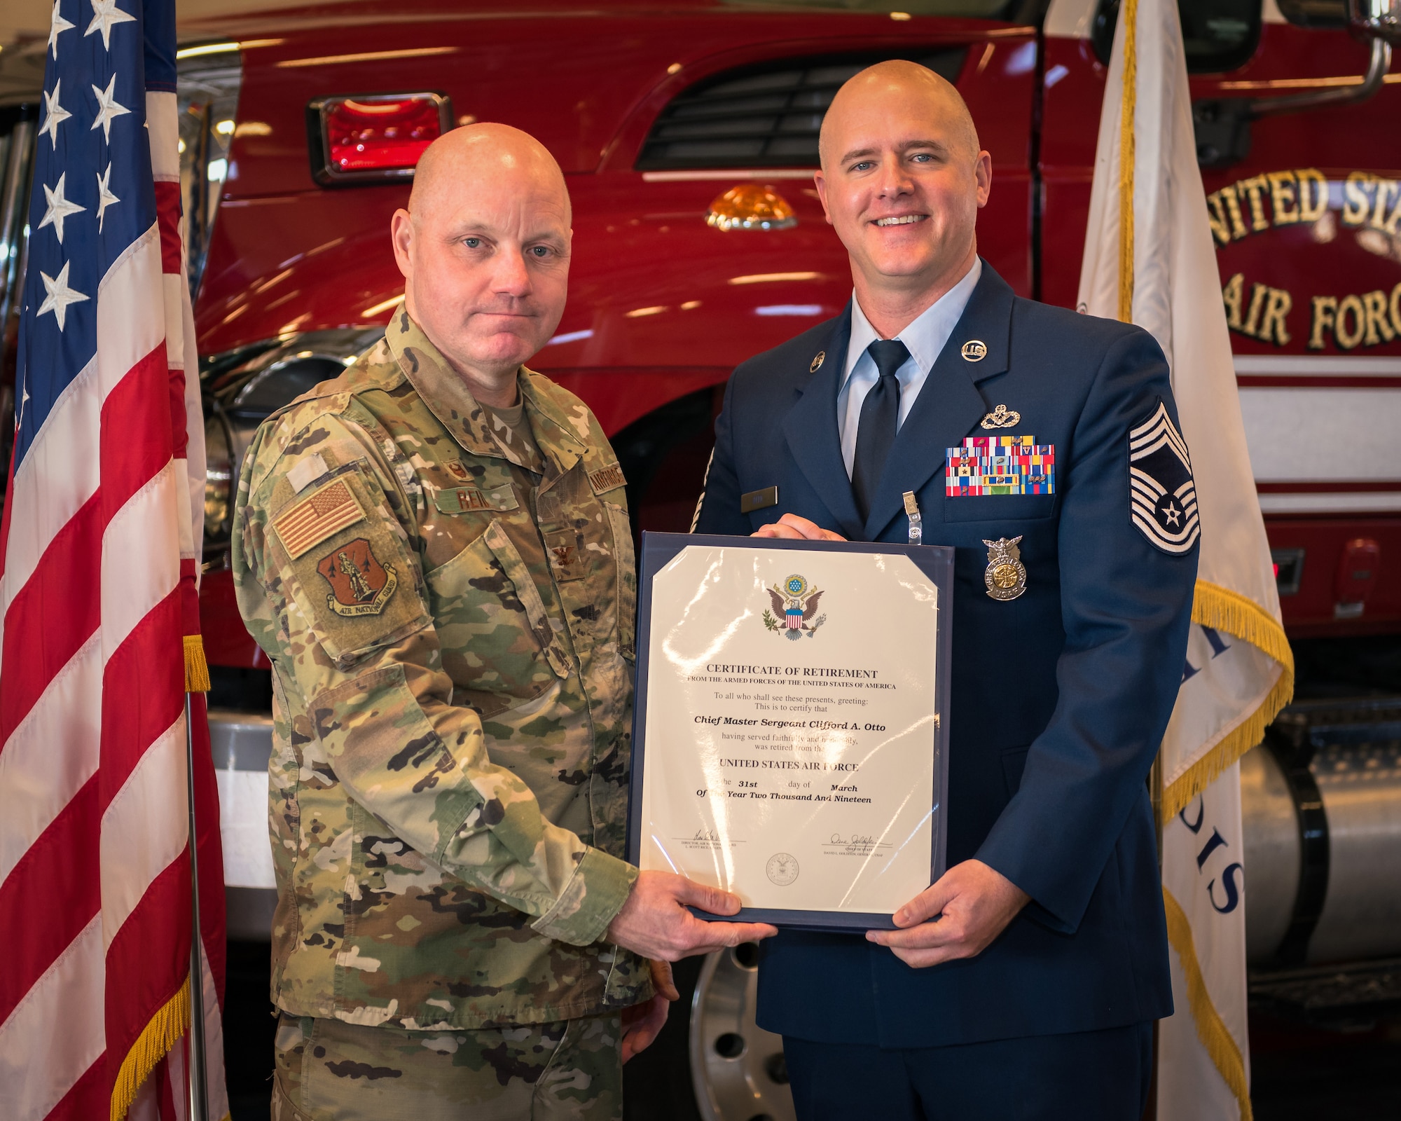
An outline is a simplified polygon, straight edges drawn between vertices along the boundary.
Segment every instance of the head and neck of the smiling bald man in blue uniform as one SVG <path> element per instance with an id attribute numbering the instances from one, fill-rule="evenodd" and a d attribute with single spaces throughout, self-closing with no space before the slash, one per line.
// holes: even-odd
<path id="1" fill-rule="evenodd" d="M 846 247 L 856 298 L 894 338 L 978 258 L 992 158 L 939 74 L 883 62 L 842 85 L 822 119 L 817 192 Z"/>

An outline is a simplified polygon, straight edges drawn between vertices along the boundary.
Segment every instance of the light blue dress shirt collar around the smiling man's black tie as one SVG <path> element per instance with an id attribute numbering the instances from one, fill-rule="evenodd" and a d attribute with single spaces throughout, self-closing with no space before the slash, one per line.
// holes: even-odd
<path id="1" fill-rule="evenodd" d="M 972 268 L 968 269 L 962 280 L 925 308 L 915 321 L 901 331 L 895 338 L 905 343 L 909 359 L 895 371 L 899 380 L 899 415 L 895 418 L 895 429 L 905 423 L 909 411 L 925 388 L 925 380 L 934 366 L 948 336 L 954 333 L 954 326 L 968 305 L 968 297 L 978 286 L 982 276 L 982 259 L 974 258 Z M 876 360 L 866 353 L 866 348 L 881 338 L 876 328 L 870 325 L 866 312 L 862 311 L 856 293 L 852 293 L 852 341 L 846 348 L 846 373 L 842 385 L 836 391 L 836 429 L 842 436 L 842 461 L 846 464 L 846 478 L 852 476 L 852 462 L 856 460 L 856 429 L 862 419 L 862 402 L 866 394 L 878 380 Z"/>

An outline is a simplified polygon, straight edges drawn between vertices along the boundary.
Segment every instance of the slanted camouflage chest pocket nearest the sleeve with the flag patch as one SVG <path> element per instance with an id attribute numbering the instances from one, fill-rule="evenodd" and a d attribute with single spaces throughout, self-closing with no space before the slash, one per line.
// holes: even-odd
<path id="1" fill-rule="evenodd" d="M 483 716 L 539 696 L 569 677 L 539 589 L 493 520 L 457 556 L 425 575 L 443 668 Z"/>

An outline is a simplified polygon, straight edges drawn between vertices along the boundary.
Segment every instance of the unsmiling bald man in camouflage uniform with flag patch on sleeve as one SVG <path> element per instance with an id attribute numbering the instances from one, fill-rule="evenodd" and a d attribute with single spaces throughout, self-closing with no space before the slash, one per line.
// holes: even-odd
<path id="1" fill-rule="evenodd" d="M 272 659 L 273 1117 L 621 1118 L 675 960 L 773 928 L 619 859 L 636 579 L 623 476 L 521 366 L 570 207 L 502 125 L 436 142 L 394 216 L 403 308 L 270 416 L 238 603 Z M 654 993 L 653 978 L 657 981 Z"/>

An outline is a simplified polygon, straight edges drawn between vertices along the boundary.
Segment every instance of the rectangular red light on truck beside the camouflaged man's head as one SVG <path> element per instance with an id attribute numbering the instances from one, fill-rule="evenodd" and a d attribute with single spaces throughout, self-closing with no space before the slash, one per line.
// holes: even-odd
<path id="1" fill-rule="evenodd" d="M 441 94 L 366 94 L 311 102 L 312 154 L 321 182 L 406 178 L 423 149 L 453 128 L 453 106 Z M 318 158 L 319 157 L 319 158 Z"/>

